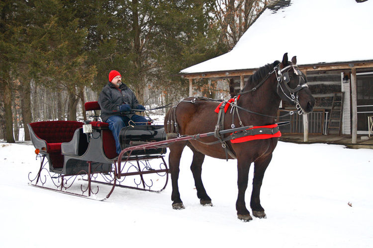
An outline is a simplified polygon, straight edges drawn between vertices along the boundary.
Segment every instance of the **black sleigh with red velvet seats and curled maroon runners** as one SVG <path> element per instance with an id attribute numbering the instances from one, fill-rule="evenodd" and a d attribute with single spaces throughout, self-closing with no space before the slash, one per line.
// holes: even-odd
<path id="1" fill-rule="evenodd" d="M 97 102 L 86 111 L 100 110 Z M 123 152 L 116 154 L 108 124 L 47 121 L 28 124 L 40 167 L 29 173 L 31 186 L 103 200 L 115 187 L 162 191 L 168 183 L 165 147 L 133 149 L 138 144 L 165 140 L 163 125 L 129 125 L 120 134 Z M 120 157 L 120 158 L 119 158 Z"/>

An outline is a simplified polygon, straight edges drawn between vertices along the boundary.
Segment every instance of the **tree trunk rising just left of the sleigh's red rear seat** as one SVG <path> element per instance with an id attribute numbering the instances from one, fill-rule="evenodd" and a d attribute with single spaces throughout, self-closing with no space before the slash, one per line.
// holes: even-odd
<path id="1" fill-rule="evenodd" d="M 27 124 L 32 122 L 30 82 L 23 83 L 20 89 L 21 89 L 21 92 L 20 92 L 21 115 L 22 115 L 22 122 L 23 122 L 23 127 L 24 127 L 24 140 L 31 140 L 30 132 L 27 126 Z"/>

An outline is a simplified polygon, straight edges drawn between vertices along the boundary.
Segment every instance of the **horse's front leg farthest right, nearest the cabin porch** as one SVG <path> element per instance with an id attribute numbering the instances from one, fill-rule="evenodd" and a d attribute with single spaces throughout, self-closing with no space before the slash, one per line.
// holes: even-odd
<path id="1" fill-rule="evenodd" d="M 250 207 L 253 215 L 258 218 L 266 218 L 264 208 L 260 204 L 260 188 L 262 186 L 264 173 L 272 160 L 272 153 L 254 162 L 253 191 L 251 193 Z"/>

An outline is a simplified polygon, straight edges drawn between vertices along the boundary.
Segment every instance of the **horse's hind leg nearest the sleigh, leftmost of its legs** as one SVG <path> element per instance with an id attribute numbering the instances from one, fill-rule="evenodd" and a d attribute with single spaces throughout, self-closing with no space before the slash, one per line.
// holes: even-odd
<path id="1" fill-rule="evenodd" d="M 183 201 L 180 198 L 179 192 L 179 172 L 180 172 L 180 158 L 182 157 L 182 153 L 186 142 L 175 142 L 170 145 L 170 155 L 169 155 L 169 166 L 171 172 L 171 182 L 172 182 L 172 194 L 171 200 L 173 201 L 172 207 L 174 209 L 183 209 Z"/>

